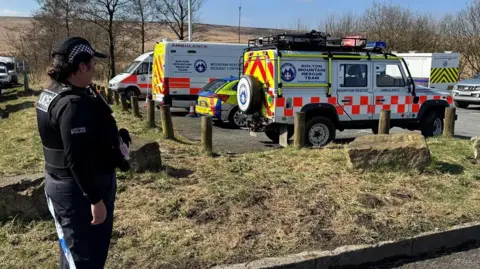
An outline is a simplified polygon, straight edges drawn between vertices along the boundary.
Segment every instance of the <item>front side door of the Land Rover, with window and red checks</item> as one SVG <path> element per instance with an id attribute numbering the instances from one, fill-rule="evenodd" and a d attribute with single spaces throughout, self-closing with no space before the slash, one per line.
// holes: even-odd
<path id="1" fill-rule="evenodd" d="M 375 61 L 374 113 L 373 119 L 380 118 L 382 109 L 390 110 L 391 119 L 407 119 L 409 100 L 407 79 L 399 61 Z"/>

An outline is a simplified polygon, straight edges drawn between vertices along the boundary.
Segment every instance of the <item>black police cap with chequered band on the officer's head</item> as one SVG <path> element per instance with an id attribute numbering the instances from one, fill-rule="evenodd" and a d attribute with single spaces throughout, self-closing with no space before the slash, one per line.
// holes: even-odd
<path id="1" fill-rule="evenodd" d="M 106 54 L 95 51 L 86 39 L 78 36 L 71 36 L 58 41 L 53 48 L 52 56 L 63 55 L 69 63 L 73 63 L 75 56 L 82 52 L 98 58 L 107 58 Z"/>

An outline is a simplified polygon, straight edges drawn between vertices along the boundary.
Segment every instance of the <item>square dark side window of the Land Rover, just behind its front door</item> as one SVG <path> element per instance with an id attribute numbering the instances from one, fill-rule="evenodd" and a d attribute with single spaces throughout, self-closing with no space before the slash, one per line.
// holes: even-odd
<path id="1" fill-rule="evenodd" d="M 368 68 L 366 64 L 341 64 L 340 87 L 360 88 L 368 86 Z"/>

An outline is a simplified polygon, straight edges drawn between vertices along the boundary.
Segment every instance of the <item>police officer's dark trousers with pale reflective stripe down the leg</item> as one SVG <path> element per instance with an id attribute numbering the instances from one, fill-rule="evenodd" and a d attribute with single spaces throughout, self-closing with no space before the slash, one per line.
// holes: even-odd
<path id="1" fill-rule="evenodd" d="M 60 268 L 103 268 L 110 246 L 116 193 L 115 172 L 98 175 L 107 219 L 92 225 L 90 202 L 72 178 L 47 173 L 45 193 L 60 244 Z"/>

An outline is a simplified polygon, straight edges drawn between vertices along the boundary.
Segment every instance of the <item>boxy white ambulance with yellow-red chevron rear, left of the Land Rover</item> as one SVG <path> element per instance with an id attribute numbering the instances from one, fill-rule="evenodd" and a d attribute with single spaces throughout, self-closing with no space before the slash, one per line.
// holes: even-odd
<path id="1" fill-rule="evenodd" d="M 248 45 L 169 41 L 155 45 L 153 100 L 172 107 L 194 105 L 200 89 L 217 78 L 238 77 Z"/>

